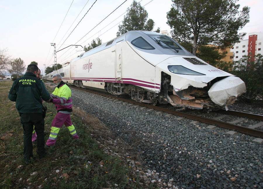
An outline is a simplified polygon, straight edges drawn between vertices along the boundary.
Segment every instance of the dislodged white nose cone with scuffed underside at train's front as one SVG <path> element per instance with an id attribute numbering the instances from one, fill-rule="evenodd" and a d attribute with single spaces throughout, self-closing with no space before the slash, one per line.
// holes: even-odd
<path id="1" fill-rule="evenodd" d="M 229 76 L 214 83 L 208 95 L 214 103 L 224 106 L 233 104 L 245 92 L 245 83 L 239 77 Z"/>

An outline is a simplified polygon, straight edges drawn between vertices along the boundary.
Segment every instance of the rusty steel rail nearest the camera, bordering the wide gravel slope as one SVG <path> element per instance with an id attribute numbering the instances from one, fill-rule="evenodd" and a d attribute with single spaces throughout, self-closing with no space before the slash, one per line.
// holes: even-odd
<path id="1" fill-rule="evenodd" d="M 70 86 L 70 87 L 72 87 L 72 86 Z M 78 87 L 72 87 L 72 88 L 81 89 L 81 88 L 78 88 Z M 216 126 L 224 128 L 224 129 L 238 131 L 240 133 L 245 133 L 245 134 L 248 134 L 248 135 L 251 135 L 251 136 L 256 136 L 256 137 L 259 137 L 259 138 L 263 138 L 263 131 L 260 131 L 260 130 L 257 130 L 257 129 L 250 129 L 248 127 L 234 125 L 234 124 L 231 124 L 231 123 L 226 123 L 226 122 L 218 121 L 218 120 L 215 120 L 215 119 L 209 119 L 209 118 L 206 118 L 206 117 L 200 117 L 200 116 L 197 116 L 197 115 L 191 115 L 191 114 L 187 114 L 187 113 L 184 113 L 184 112 L 168 110 L 168 109 L 165 109 L 165 108 L 162 108 L 162 107 L 157 107 L 157 106 L 153 106 L 153 105 L 149 105 L 149 104 L 145 104 L 145 103 L 140 103 L 140 102 L 136 102 L 136 101 L 133 101 L 133 100 L 120 98 L 120 97 L 117 97 L 117 96 L 112 96 L 112 95 L 109 95 L 109 94 L 104 94 L 104 93 L 100 93 L 100 92 L 96 92 L 96 91 L 90 91 L 88 89 L 83 89 L 82 88 L 82 90 L 88 91 L 88 92 L 91 92 L 91 93 L 95 93 L 95 94 L 98 94 L 98 95 L 110 97 L 110 98 L 115 98 L 115 99 L 118 99 L 118 100 L 122 100 L 124 102 L 128 102 L 128 103 L 132 103 L 132 104 L 135 104 L 135 105 L 139 105 L 139 106 L 142 106 L 142 107 L 148 107 L 148 108 L 151 108 L 151 109 L 154 109 L 154 110 L 158 110 L 158 111 L 161 111 L 161 112 L 166 112 L 166 113 L 169 113 L 169 114 L 172 114 L 172 115 L 185 117 L 187 119 L 192 119 L 192 120 L 195 120 L 195 121 L 198 121 L 198 122 L 207 123 L 207 124 L 211 124 L 211 125 L 216 125 Z"/>

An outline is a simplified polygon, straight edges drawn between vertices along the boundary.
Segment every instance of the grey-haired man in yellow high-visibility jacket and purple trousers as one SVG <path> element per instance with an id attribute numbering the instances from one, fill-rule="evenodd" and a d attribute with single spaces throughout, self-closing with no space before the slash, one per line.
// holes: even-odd
<path id="1" fill-rule="evenodd" d="M 71 136 L 74 139 L 79 139 L 74 125 L 70 119 L 70 113 L 72 112 L 72 98 L 70 88 L 62 81 L 60 74 L 54 74 L 52 76 L 53 82 L 56 85 L 56 89 L 50 94 L 51 99 L 46 102 L 51 102 L 56 105 L 57 115 L 51 124 L 51 131 L 49 139 L 46 141 L 45 147 L 54 146 L 58 136 L 58 132 L 63 124 L 70 131 Z"/>

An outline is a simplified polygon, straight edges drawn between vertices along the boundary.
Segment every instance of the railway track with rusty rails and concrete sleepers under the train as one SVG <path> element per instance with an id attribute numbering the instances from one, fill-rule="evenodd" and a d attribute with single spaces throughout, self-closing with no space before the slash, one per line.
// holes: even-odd
<path id="1" fill-rule="evenodd" d="M 154 110 L 157 110 L 157 111 L 160 111 L 160 112 L 166 112 L 169 115 L 176 115 L 176 116 L 183 117 L 183 118 L 186 118 L 186 119 L 192 119 L 192 120 L 194 120 L 196 122 L 203 122 L 203 123 L 206 123 L 206 124 L 210 124 L 211 127 L 212 126 L 219 126 L 219 127 L 224 128 L 224 129 L 229 129 L 229 130 L 232 130 L 232 131 L 245 133 L 245 134 L 248 134 L 248 135 L 251 135 L 251 136 L 255 136 L 255 137 L 258 137 L 258 138 L 263 138 L 263 131 L 255 129 L 255 128 L 258 128 L 260 126 L 263 126 L 263 122 L 262 122 L 263 121 L 263 116 L 262 115 L 256 115 L 256 114 L 251 114 L 251 113 L 246 113 L 246 112 L 238 112 L 238 111 L 233 111 L 233 110 L 226 111 L 224 109 L 221 109 L 221 110 L 217 111 L 217 113 L 220 113 L 222 115 L 217 116 L 217 117 L 213 117 L 213 118 L 208 118 L 208 117 L 205 117 L 208 114 L 207 115 L 202 115 L 202 116 L 200 116 L 200 115 L 193 115 L 193 114 L 190 114 L 190 113 L 180 112 L 180 111 L 176 111 L 176 110 L 170 110 L 170 109 L 167 109 L 167 108 L 153 106 L 153 105 L 149 105 L 149 104 L 145 104 L 145 103 L 139 103 L 139 102 L 136 102 L 136 101 L 131 100 L 131 99 L 120 98 L 120 97 L 113 96 L 113 95 L 110 95 L 110 94 L 106 94 L 106 93 L 103 93 L 103 92 L 92 91 L 92 90 L 89 90 L 89 89 L 83 89 L 83 88 L 79 88 L 79 87 L 75 87 L 75 86 L 70 86 L 70 87 L 72 87 L 74 89 L 78 89 L 78 90 L 84 90 L 84 91 L 87 91 L 87 92 L 90 92 L 90 93 L 95 93 L 95 94 L 98 94 L 98 95 L 101 95 L 101 96 L 105 96 L 105 97 L 115 98 L 117 100 L 121 100 L 121 101 L 124 101 L 124 102 L 127 102 L 127 103 L 139 105 L 141 107 L 154 109 Z M 231 122 L 224 122 L 224 121 L 220 121 L 219 120 L 219 119 L 222 119 L 222 118 L 226 117 L 227 115 L 237 116 L 237 117 L 241 117 L 241 118 L 235 119 L 235 120 L 233 120 Z M 258 122 L 257 124 L 254 124 L 252 126 L 249 126 L 249 127 L 236 125 L 236 123 L 244 121 L 245 118 L 259 120 L 260 122 Z"/>

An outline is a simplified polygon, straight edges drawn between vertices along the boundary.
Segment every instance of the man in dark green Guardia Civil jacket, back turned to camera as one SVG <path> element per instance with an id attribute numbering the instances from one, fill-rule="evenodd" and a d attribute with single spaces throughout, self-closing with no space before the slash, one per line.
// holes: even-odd
<path id="1" fill-rule="evenodd" d="M 25 75 L 14 81 L 8 94 L 8 98 L 16 102 L 16 109 L 23 124 L 24 160 L 26 164 L 29 164 L 33 157 L 33 125 L 37 132 L 37 154 L 39 158 L 45 156 L 44 119 L 42 116 L 43 106 L 41 98 L 49 100 L 50 95 L 44 83 L 37 79 L 37 71 L 37 65 L 28 65 Z"/>

